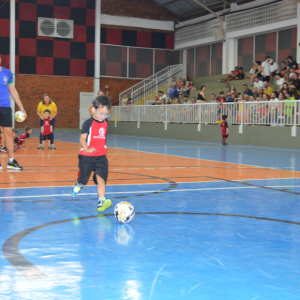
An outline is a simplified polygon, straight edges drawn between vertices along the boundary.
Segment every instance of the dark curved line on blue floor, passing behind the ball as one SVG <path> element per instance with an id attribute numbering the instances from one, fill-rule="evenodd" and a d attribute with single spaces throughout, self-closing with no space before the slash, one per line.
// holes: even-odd
<path id="1" fill-rule="evenodd" d="M 246 219 L 256 219 L 263 221 L 271 221 L 278 223 L 287 223 L 292 225 L 300 225 L 299 222 L 295 221 L 287 221 L 280 219 L 272 219 L 265 217 L 255 217 L 255 216 L 246 216 L 246 215 L 234 215 L 234 214 L 218 214 L 218 213 L 196 213 L 196 212 L 138 212 L 136 215 L 200 215 L 200 216 L 219 216 L 219 217 L 236 217 L 236 218 L 246 218 Z M 101 217 L 112 217 L 114 214 L 102 214 L 102 215 L 93 215 L 93 216 L 85 216 L 76 218 L 76 220 L 86 220 L 92 218 L 101 218 Z M 62 223 L 67 223 L 74 221 L 74 219 L 65 219 L 54 222 L 48 222 L 41 225 L 37 225 L 23 231 L 20 231 L 11 237 L 9 237 L 2 246 L 2 253 L 7 261 L 9 261 L 17 271 L 19 271 L 27 280 L 40 280 L 40 279 L 48 279 L 49 277 L 43 273 L 39 268 L 37 268 L 34 264 L 32 264 L 29 260 L 27 260 L 19 250 L 19 244 L 21 240 L 27 235 L 38 231 L 40 229 L 58 225 Z M 203 253 L 202 253 L 203 254 Z M 206 254 L 203 254 L 206 255 Z M 206 255 L 209 256 L 209 255 Z M 212 256 L 209 256 L 212 257 Z M 247 270 L 246 270 L 247 271 Z M 266 278 L 268 279 L 268 278 Z M 268 279 L 269 280 L 269 279 Z M 277 282 L 278 283 L 278 282 Z M 281 284 L 281 283 L 278 283 Z M 283 284 L 281 284 L 283 285 Z"/>

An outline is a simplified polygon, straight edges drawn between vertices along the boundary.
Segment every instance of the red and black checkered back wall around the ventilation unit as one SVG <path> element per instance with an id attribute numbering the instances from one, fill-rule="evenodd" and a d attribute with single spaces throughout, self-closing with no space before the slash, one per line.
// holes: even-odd
<path id="1" fill-rule="evenodd" d="M 0 0 L 0 6 L 0 53 L 2 65 L 9 68 L 10 3 Z M 74 38 L 39 37 L 38 17 L 73 20 Z M 93 77 L 94 37 L 94 0 L 16 0 L 16 73 Z M 154 49 L 173 49 L 174 34 L 101 28 L 101 43 L 102 76 L 144 78 L 153 72 Z M 127 47 L 120 46 L 130 47 L 129 70 Z M 158 67 L 155 62 L 155 70 L 170 61 L 179 63 L 179 53 L 160 51 L 165 52 L 164 59 L 158 60 Z M 134 53 L 136 58 L 133 58 Z"/>

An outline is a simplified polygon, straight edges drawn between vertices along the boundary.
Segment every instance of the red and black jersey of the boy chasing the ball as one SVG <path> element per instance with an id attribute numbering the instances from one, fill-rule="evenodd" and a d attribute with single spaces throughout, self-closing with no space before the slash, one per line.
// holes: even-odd
<path id="1" fill-rule="evenodd" d="M 82 125 L 81 134 L 87 133 L 86 143 L 89 148 L 95 148 L 93 153 L 86 152 L 83 148 L 80 149 L 80 155 L 86 156 L 101 156 L 107 155 L 106 152 L 106 135 L 107 135 L 107 121 L 97 121 L 94 118 L 86 120 Z"/>

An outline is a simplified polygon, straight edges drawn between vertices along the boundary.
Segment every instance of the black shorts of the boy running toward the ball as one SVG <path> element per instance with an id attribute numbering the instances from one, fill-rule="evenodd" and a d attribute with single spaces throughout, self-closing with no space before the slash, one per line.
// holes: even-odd
<path id="1" fill-rule="evenodd" d="M 96 175 L 99 175 L 106 183 L 108 177 L 108 160 L 105 155 L 86 156 L 79 154 L 78 158 L 78 183 L 86 185 L 90 179 L 92 172 L 94 172 L 93 180 L 95 184 L 98 184 Z"/>

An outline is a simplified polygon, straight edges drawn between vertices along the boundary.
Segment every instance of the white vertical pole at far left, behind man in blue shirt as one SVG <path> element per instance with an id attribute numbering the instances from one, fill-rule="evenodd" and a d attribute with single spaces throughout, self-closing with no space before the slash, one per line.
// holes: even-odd
<path id="1" fill-rule="evenodd" d="M 10 0 L 10 41 L 9 41 L 9 68 L 13 73 L 14 83 L 16 84 L 16 1 Z M 10 97 L 13 116 L 15 115 L 15 101 Z M 15 118 L 13 117 L 13 127 Z"/>

